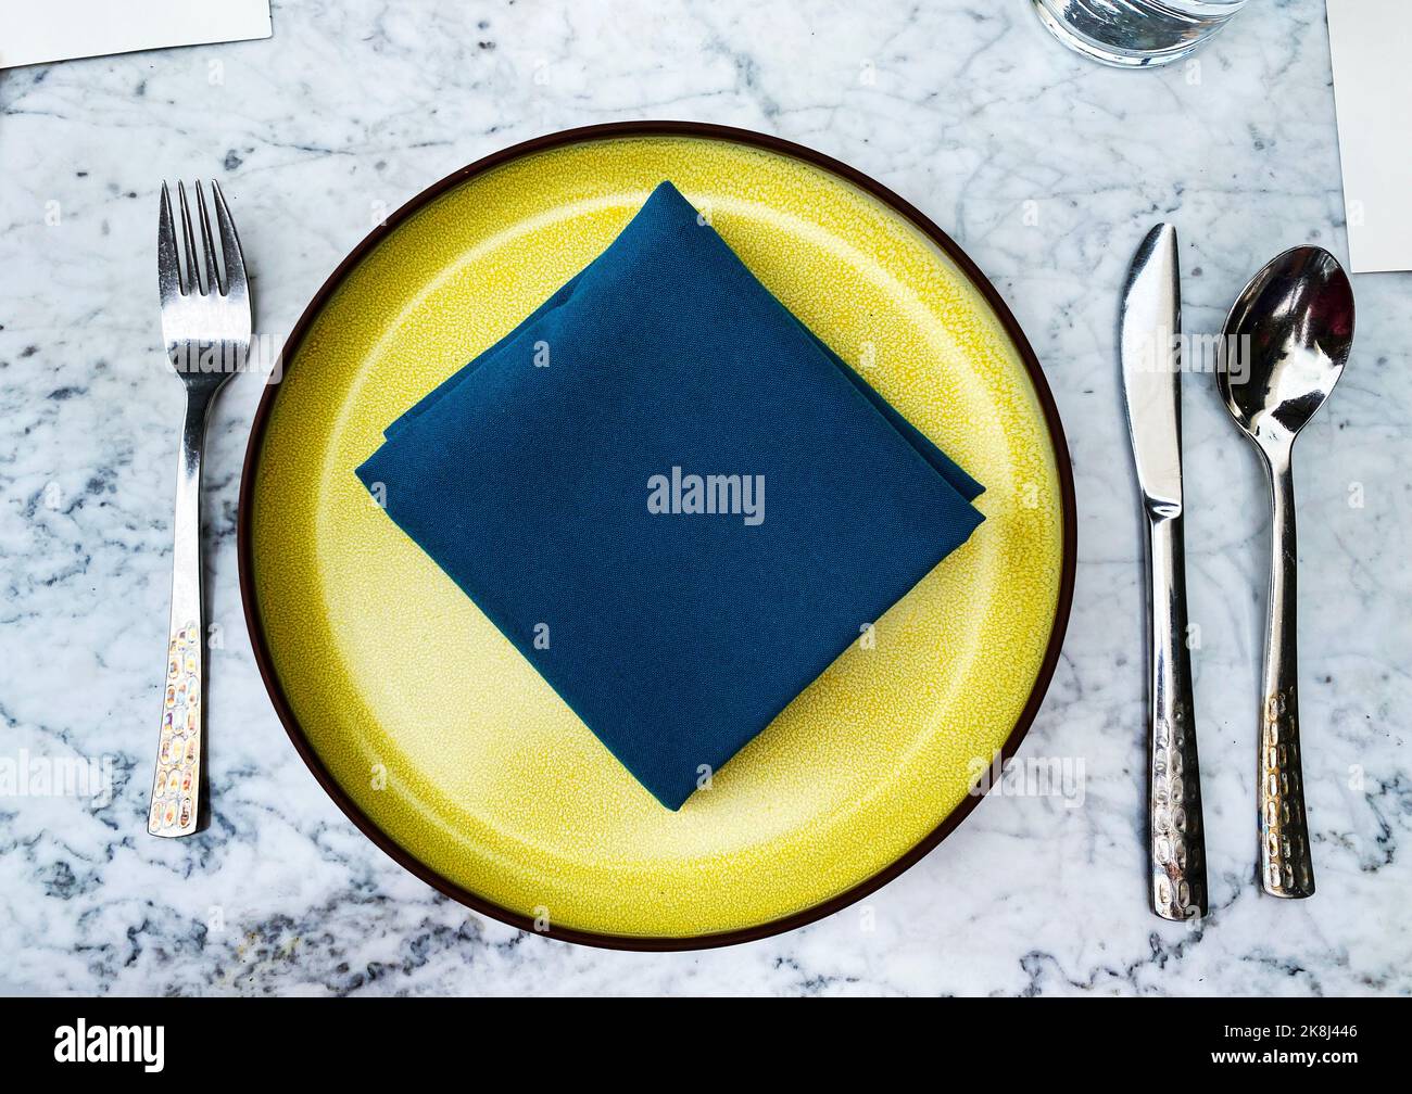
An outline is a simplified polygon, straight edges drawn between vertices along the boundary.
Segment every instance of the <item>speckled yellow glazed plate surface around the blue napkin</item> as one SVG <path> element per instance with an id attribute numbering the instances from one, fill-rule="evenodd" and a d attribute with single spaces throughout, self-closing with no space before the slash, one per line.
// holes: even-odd
<path id="1" fill-rule="evenodd" d="M 986 522 L 878 623 L 875 648 L 846 652 L 679 813 L 353 477 L 390 421 L 602 251 L 664 178 L 987 486 Z M 801 161 L 699 137 L 537 152 L 401 224 L 287 364 L 253 497 L 267 644 L 332 775 L 452 882 L 606 934 L 750 927 L 907 853 L 1010 735 L 1060 586 L 1051 439 L 984 299 L 875 198 Z"/>

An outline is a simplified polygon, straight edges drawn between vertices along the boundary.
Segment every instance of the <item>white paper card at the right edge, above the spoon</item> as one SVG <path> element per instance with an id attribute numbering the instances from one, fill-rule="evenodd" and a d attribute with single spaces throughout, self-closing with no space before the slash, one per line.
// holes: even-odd
<path id="1" fill-rule="evenodd" d="M 1412 3 L 1329 0 L 1348 258 L 1412 270 Z"/>

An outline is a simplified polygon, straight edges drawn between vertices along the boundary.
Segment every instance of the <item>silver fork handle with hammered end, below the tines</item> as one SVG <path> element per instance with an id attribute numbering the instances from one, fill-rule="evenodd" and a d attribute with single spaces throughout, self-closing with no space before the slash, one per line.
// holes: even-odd
<path id="1" fill-rule="evenodd" d="M 186 392 L 176 455 L 176 515 L 172 539 L 172 614 L 167 639 L 161 734 L 152 774 L 147 831 L 191 836 L 201 820 L 201 765 L 206 752 L 205 613 L 201 596 L 201 455 L 210 394 Z"/>

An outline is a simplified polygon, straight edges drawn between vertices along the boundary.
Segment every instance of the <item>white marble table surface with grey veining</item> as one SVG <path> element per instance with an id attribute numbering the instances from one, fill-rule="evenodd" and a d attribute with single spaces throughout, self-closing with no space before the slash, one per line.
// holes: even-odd
<path id="1" fill-rule="evenodd" d="M 1358 339 L 1300 442 L 1302 703 L 1319 894 L 1254 881 L 1268 517 L 1214 384 L 1185 392 L 1187 577 L 1211 912 L 1144 877 L 1142 583 L 1114 364 L 1134 246 L 1178 224 L 1186 325 L 1313 241 L 1346 257 L 1323 6 L 1251 4 L 1189 64 L 1113 72 L 1028 4 L 277 3 L 270 41 L 0 72 L 0 990 L 110 994 L 1412 992 L 1412 279 L 1356 278 Z M 1000 796 L 857 908 L 706 953 L 548 942 L 438 896 L 292 752 L 250 652 L 234 505 L 254 377 L 208 463 L 215 820 L 143 831 L 171 570 L 179 384 L 158 347 L 157 185 L 222 179 L 277 339 L 370 226 L 535 134 L 695 119 L 813 145 L 929 213 L 993 278 L 1063 415 L 1079 567 L 1022 755 L 1082 798 Z M 1193 383 L 1195 380 L 1195 383 Z"/>

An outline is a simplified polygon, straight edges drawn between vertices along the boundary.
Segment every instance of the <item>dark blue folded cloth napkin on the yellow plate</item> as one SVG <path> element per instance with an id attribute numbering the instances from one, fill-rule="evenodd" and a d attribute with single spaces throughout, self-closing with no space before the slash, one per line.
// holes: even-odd
<path id="1" fill-rule="evenodd" d="M 983 519 L 669 182 L 357 474 L 669 809 Z"/>

